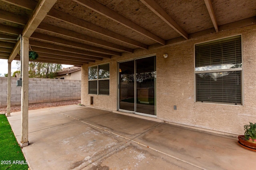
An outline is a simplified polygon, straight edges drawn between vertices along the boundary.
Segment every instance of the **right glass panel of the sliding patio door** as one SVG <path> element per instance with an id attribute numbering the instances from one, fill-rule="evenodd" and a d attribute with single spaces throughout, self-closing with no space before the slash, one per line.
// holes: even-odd
<path id="1" fill-rule="evenodd" d="M 136 60 L 136 112 L 155 115 L 155 57 Z"/>

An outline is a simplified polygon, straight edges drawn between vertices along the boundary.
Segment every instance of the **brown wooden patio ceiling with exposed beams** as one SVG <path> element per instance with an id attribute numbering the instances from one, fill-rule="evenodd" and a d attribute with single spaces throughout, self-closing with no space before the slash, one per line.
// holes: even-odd
<path id="1" fill-rule="evenodd" d="M 256 0 L 50 2 L 0 0 L 0 59 L 20 59 L 21 33 L 37 61 L 81 66 L 256 23 Z"/>

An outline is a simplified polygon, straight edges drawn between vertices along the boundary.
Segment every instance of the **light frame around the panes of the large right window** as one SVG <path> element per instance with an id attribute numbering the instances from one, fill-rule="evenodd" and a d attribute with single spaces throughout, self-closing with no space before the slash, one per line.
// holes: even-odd
<path id="1" fill-rule="evenodd" d="M 228 68 L 228 69 L 213 69 L 213 70 L 202 70 L 202 71 L 196 71 L 196 45 L 199 44 L 204 44 L 204 43 L 214 43 L 214 41 L 221 41 L 221 40 L 225 40 L 228 38 L 232 38 L 232 37 L 236 37 L 236 36 L 240 36 L 241 38 L 241 62 L 242 62 L 242 67 L 241 68 Z M 219 38 L 219 39 L 214 39 L 214 40 L 210 40 L 210 41 L 205 41 L 205 42 L 201 42 L 201 43 L 196 43 L 194 44 L 194 102 L 196 103 L 207 103 L 207 104 L 222 104 L 222 105 L 228 105 L 228 106 L 244 106 L 244 62 L 243 62 L 243 37 L 242 34 L 238 34 L 238 35 L 232 35 L 229 37 L 224 37 L 224 38 Z M 241 104 L 233 104 L 233 103 L 224 103 L 224 102 L 207 102 L 207 101 L 197 101 L 197 83 L 196 83 L 196 74 L 200 74 L 200 73 L 214 73 L 214 72 L 230 72 L 230 71 L 240 71 L 241 72 Z"/>

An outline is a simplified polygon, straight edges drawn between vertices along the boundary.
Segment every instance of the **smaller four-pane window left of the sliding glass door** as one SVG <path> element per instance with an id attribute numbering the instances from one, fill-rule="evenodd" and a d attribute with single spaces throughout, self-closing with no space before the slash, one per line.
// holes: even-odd
<path id="1" fill-rule="evenodd" d="M 88 67 L 88 94 L 109 95 L 109 63 Z"/>

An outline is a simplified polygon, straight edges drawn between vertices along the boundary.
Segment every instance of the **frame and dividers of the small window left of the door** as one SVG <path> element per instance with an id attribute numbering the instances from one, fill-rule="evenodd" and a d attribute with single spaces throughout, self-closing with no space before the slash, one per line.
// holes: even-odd
<path id="1" fill-rule="evenodd" d="M 99 66 L 100 65 L 104 65 L 104 64 L 108 64 L 108 69 L 109 69 L 109 78 L 99 78 Z M 96 79 L 89 79 L 89 68 L 90 67 L 95 67 L 97 66 L 97 78 Z M 99 82 L 101 80 L 108 80 L 108 94 L 100 94 L 100 86 L 99 86 Z M 89 82 L 90 81 L 97 81 L 97 94 L 91 94 L 90 93 L 90 86 L 89 86 Z M 93 66 L 88 66 L 88 94 L 90 95 L 103 95 L 103 96 L 109 96 L 110 93 L 109 93 L 109 90 L 110 90 L 110 63 L 103 63 L 103 64 L 98 64 L 98 65 L 93 65 Z"/>

